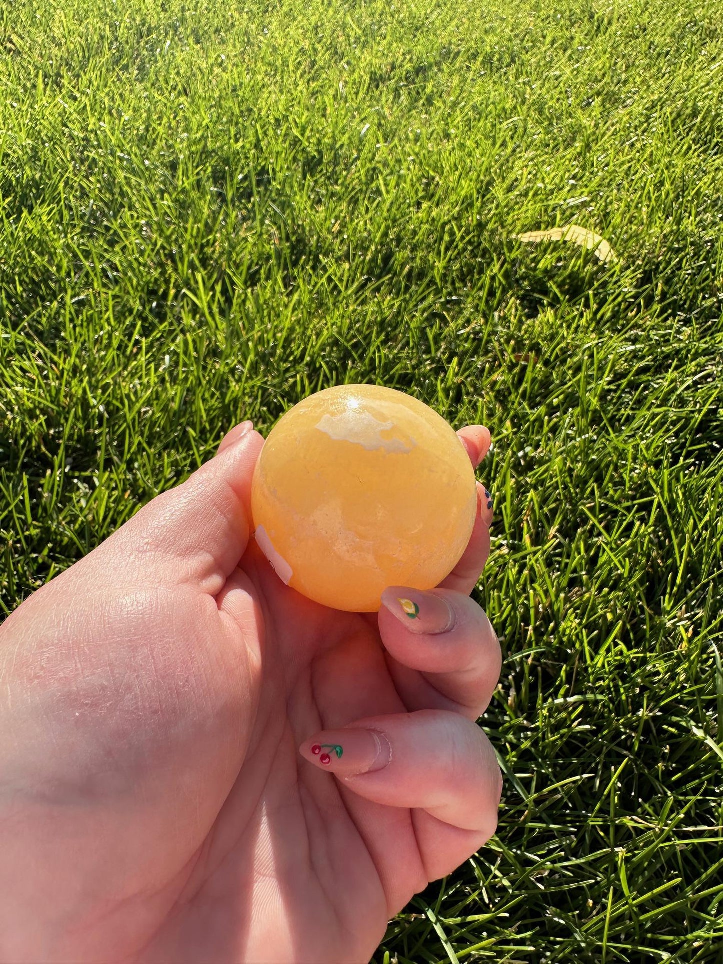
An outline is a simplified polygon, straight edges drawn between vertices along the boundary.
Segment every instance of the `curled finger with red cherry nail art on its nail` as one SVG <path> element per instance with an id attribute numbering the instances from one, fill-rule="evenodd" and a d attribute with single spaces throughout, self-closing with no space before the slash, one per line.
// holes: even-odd
<path id="1" fill-rule="evenodd" d="M 444 823 L 495 833 L 501 775 L 487 736 L 443 710 L 372 716 L 315 734 L 299 752 L 367 800 L 425 810 Z"/>

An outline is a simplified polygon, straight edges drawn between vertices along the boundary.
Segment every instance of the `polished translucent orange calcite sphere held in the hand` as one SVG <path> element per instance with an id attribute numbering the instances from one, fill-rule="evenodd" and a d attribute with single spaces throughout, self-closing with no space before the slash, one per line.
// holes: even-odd
<path id="1" fill-rule="evenodd" d="M 390 585 L 432 589 L 467 547 L 474 470 L 451 426 L 392 388 L 310 395 L 269 434 L 252 487 L 255 540 L 317 603 L 379 609 Z"/>

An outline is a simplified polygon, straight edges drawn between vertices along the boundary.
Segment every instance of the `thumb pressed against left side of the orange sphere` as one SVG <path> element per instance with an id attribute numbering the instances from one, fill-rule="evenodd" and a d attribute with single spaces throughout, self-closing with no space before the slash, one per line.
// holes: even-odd
<path id="1" fill-rule="evenodd" d="M 119 554 L 126 573 L 132 567 L 142 578 L 193 581 L 203 592 L 220 592 L 249 541 L 251 483 L 263 446 L 252 422 L 231 434 L 216 456 L 156 495 L 100 549 Z"/>

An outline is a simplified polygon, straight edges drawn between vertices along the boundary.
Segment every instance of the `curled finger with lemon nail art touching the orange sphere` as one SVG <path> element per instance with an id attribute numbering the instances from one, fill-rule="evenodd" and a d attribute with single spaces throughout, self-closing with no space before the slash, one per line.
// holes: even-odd
<path id="1" fill-rule="evenodd" d="M 486 613 L 462 593 L 391 586 L 379 632 L 389 671 L 410 710 L 454 710 L 476 719 L 489 706 L 502 653 Z"/>

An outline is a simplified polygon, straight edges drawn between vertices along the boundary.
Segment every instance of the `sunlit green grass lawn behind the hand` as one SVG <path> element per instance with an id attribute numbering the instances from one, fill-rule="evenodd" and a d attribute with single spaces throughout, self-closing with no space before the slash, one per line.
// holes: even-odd
<path id="1" fill-rule="evenodd" d="M 723 0 L 2 10 L 2 610 L 242 417 L 484 421 L 499 831 L 375 961 L 722 961 Z"/>

